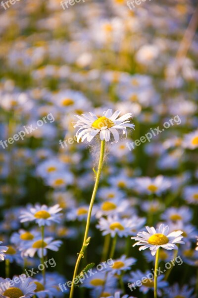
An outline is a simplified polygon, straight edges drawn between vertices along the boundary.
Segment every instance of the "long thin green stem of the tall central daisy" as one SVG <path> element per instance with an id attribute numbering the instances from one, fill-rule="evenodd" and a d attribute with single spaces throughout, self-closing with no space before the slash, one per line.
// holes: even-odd
<path id="1" fill-rule="evenodd" d="M 103 158 L 104 158 L 104 148 L 105 148 L 105 141 L 101 141 L 100 156 L 99 156 L 99 167 L 98 167 L 98 171 L 97 171 L 96 182 L 95 182 L 95 186 L 94 186 L 94 190 L 93 190 L 93 194 L 92 194 L 92 199 L 91 199 L 91 202 L 90 202 L 89 212 L 88 212 L 88 216 L 87 216 L 87 224 L 86 224 L 86 229 L 85 229 L 83 245 L 82 245 L 81 251 L 78 255 L 78 259 L 76 261 L 74 274 L 73 274 L 73 280 L 77 276 L 78 267 L 80 265 L 81 258 L 83 257 L 83 248 L 84 248 L 84 246 L 86 244 L 86 240 L 88 238 L 91 215 L 92 215 L 92 209 L 93 209 L 93 206 L 94 206 L 94 201 L 95 201 L 96 194 L 97 194 L 98 187 L 99 187 L 99 178 L 100 178 L 100 175 L 101 175 L 102 162 L 103 162 Z M 74 294 L 74 283 L 72 282 L 69 298 L 72 298 L 73 294 Z"/>

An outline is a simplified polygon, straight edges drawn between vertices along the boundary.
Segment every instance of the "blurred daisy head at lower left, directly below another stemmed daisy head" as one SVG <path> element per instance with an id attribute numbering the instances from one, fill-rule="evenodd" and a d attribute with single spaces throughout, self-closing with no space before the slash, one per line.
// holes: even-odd
<path id="1" fill-rule="evenodd" d="M 23 256 L 27 257 L 30 256 L 31 258 L 34 257 L 35 253 L 38 253 L 38 256 L 41 258 L 42 257 L 42 251 L 43 255 L 47 255 L 47 249 L 52 250 L 52 251 L 58 251 L 60 245 L 62 244 L 62 241 L 60 240 L 54 240 L 52 237 L 46 237 L 44 240 L 41 238 L 35 239 L 35 241 L 31 241 L 24 246 L 23 248 Z M 22 248 L 21 248 L 22 250 Z"/>

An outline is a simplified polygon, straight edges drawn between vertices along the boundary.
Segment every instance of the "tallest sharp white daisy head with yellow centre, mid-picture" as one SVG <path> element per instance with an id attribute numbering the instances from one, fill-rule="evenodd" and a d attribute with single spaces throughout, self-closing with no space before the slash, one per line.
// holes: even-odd
<path id="1" fill-rule="evenodd" d="M 120 118 L 120 111 L 117 110 L 112 114 L 112 110 L 108 109 L 106 112 L 103 112 L 102 117 L 97 117 L 96 114 L 90 112 L 89 114 L 82 114 L 82 116 L 75 115 L 79 120 L 74 124 L 74 127 L 79 127 L 79 130 L 76 133 L 77 142 L 79 143 L 82 138 L 82 142 L 87 139 L 88 142 L 91 142 L 92 139 L 99 134 L 100 140 L 105 140 L 109 142 L 110 135 L 112 134 L 115 143 L 119 141 L 119 133 L 121 131 L 123 135 L 127 136 L 126 127 L 134 129 L 134 124 L 130 124 L 129 120 L 132 117 L 132 113 L 127 113 Z"/>

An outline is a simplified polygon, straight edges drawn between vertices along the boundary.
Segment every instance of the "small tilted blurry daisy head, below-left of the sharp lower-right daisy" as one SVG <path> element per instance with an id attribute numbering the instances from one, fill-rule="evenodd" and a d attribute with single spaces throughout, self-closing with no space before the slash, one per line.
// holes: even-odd
<path id="1" fill-rule="evenodd" d="M 119 259 L 113 260 L 113 266 L 108 267 L 107 271 L 110 271 L 113 275 L 120 275 L 123 271 L 130 270 L 135 263 L 135 258 L 127 258 L 126 255 L 122 255 Z"/>

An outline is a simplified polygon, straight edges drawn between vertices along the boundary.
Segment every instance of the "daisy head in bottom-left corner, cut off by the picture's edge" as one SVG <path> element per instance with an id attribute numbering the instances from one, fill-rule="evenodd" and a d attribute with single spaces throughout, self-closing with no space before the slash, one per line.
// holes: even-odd
<path id="1" fill-rule="evenodd" d="M 17 283 L 15 282 L 16 278 Z M 0 287 L 0 297 L 2 298 L 30 298 L 34 296 L 36 289 L 36 285 L 32 283 L 31 278 L 21 281 L 17 276 L 13 277 L 12 280 L 0 278 L 0 285 L 3 285 L 3 287 Z"/>

